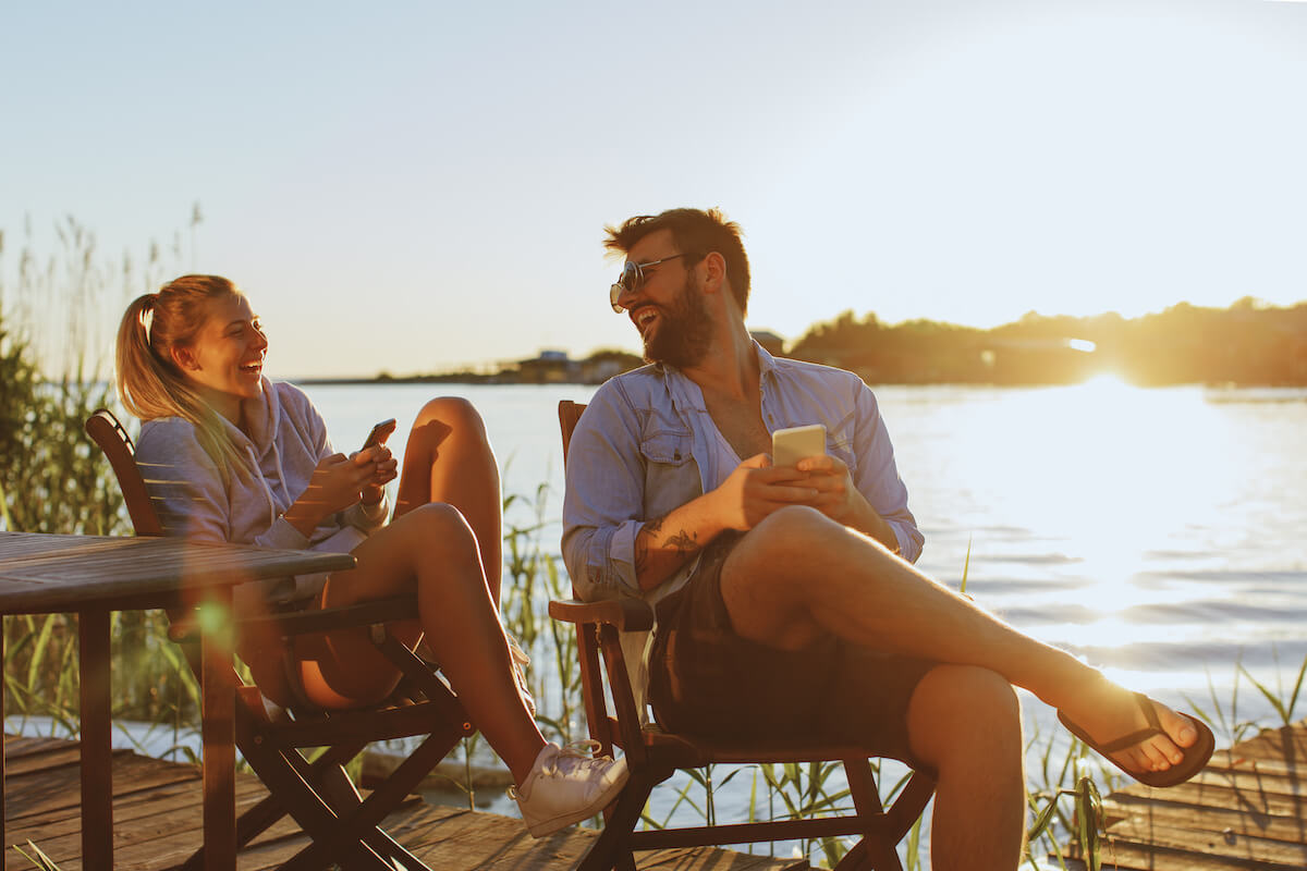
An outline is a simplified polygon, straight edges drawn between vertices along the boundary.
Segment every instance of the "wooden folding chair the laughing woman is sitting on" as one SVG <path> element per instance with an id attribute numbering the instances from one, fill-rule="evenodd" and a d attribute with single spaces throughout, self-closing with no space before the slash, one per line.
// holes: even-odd
<path id="1" fill-rule="evenodd" d="M 145 481 L 136 465 L 127 431 L 101 409 L 86 420 L 86 432 L 105 451 L 118 475 L 137 535 L 161 535 Z M 318 710 L 291 704 L 285 716 L 271 716 L 257 687 L 237 678 L 237 747 L 268 787 L 269 795 L 237 820 L 237 849 L 250 844 L 285 815 L 312 838 L 282 868 L 307 870 L 340 864 L 346 868 L 386 868 L 396 863 L 410 871 L 427 866 L 396 844 L 379 827 L 464 736 L 474 729 L 450 688 L 387 631 L 387 624 L 412 620 L 417 595 L 366 602 L 348 609 L 271 614 L 237 622 L 235 632 L 272 629 L 284 644 L 297 636 L 350 627 L 370 627 L 372 644 L 404 674 L 400 691 L 382 705 L 359 710 Z M 183 645 L 199 674 L 199 645 L 192 612 L 170 612 L 169 635 Z M 427 735 L 383 782 L 362 798 L 345 764 L 369 742 Z M 325 748 L 314 761 L 305 751 Z M 200 868 L 203 849 L 183 866 Z"/>

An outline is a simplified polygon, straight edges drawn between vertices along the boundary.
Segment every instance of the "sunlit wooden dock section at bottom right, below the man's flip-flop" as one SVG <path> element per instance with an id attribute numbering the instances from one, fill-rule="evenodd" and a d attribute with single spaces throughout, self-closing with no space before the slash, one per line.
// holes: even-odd
<path id="1" fill-rule="evenodd" d="M 1103 799 L 1103 867 L 1302 871 L 1307 868 L 1304 778 L 1307 720 L 1217 751 L 1180 786 L 1133 785 L 1112 793 Z"/>

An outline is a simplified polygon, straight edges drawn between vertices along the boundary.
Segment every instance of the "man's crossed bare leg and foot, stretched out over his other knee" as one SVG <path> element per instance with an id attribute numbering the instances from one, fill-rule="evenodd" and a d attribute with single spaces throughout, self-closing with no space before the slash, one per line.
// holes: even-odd
<path id="1" fill-rule="evenodd" d="M 1134 696 L 1069 653 L 1017 632 L 916 571 L 881 545 L 819 512 L 783 508 L 745 534 L 721 571 L 736 631 L 786 649 L 821 632 L 887 653 L 972 665 L 1060 708 L 1103 740 L 1144 729 Z M 1189 721 L 1157 705 L 1167 735 L 1114 760 L 1166 770 L 1197 739 Z"/>

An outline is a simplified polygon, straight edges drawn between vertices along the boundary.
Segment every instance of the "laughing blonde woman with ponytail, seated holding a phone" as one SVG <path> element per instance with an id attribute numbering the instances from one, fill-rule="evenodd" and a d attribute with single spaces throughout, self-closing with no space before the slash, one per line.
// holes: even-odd
<path id="1" fill-rule="evenodd" d="M 264 377 L 268 340 L 226 278 L 183 276 L 127 308 L 118 333 L 118 390 L 141 419 L 136 461 L 170 534 L 265 547 L 352 552 L 357 568 L 238 588 L 238 612 L 269 602 L 340 607 L 417 590 L 413 624 L 472 721 L 507 763 L 536 837 L 593 816 L 626 781 L 625 760 L 545 742 L 519 692 L 499 623 L 499 477 L 481 418 L 461 400 L 434 400 L 409 436 L 395 518 L 382 445 L 336 453 L 298 388 Z M 366 631 L 239 652 L 273 700 L 325 709 L 366 706 L 399 682 Z"/>

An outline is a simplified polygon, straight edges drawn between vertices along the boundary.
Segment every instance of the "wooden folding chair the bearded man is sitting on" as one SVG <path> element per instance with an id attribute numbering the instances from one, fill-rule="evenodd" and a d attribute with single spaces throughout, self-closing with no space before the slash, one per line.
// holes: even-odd
<path id="1" fill-rule="evenodd" d="M 584 405 L 562 401 L 558 420 L 563 435 L 563 462 L 571 434 Z M 575 588 L 574 588 L 575 592 Z M 707 846 L 723 844 L 755 844 L 821 838 L 842 834 L 861 836 L 836 868 L 848 871 L 902 871 L 895 846 L 912 823 L 925 810 L 935 793 L 935 778 L 927 772 L 914 772 L 899 790 L 889 810 L 880 794 L 865 748 L 813 743 L 732 744 L 706 740 L 687 734 L 672 734 L 656 725 L 640 723 L 631 682 L 622 654 L 622 632 L 647 632 L 654 627 L 654 611 L 643 601 L 622 598 L 606 602 L 550 602 L 549 615 L 576 626 L 580 653 L 582 692 L 591 738 L 612 753 L 621 747 L 631 776 L 609 811 L 603 834 L 582 861 L 580 871 L 608 871 L 622 867 L 634 870 L 633 850 Z M 608 691 L 613 700 L 609 714 L 604 699 L 604 673 L 599 659 L 603 653 Z M 853 811 L 842 816 L 787 819 L 763 823 L 702 825 L 677 829 L 635 831 L 640 814 L 654 787 L 672 777 L 677 769 L 702 768 L 725 763 L 733 765 L 767 763 L 810 763 L 840 760 L 848 778 Z"/>

